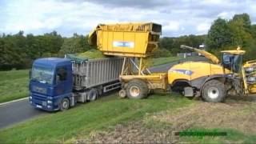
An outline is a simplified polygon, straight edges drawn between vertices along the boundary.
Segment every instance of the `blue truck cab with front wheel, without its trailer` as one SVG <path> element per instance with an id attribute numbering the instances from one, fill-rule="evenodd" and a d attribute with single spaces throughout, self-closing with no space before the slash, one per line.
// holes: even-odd
<path id="1" fill-rule="evenodd" d="M 66 110 L 74 106 L 72 63 L 66 58 L 38 58 L 30 71 L 32 106 L 42 110 Z"/>

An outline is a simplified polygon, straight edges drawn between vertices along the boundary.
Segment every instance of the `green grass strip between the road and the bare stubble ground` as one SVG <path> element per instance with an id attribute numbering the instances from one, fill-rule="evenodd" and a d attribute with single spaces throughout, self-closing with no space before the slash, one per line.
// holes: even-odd
<path id="1" fill-rule="evenodd" d="M 193 102 L 178 94 L 154 94 L 142 100 L 119 99 L 111 95 L 2 130 L 0 143 L 70 142 L 80 136 L 89 136 L 91 131 L 106 130 L 118 123 L 137 121 L 146 114 L 174 110 Z"/>

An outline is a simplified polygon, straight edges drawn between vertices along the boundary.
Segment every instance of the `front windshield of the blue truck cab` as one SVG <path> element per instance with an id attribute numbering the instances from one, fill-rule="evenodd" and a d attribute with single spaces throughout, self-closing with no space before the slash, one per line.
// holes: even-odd
<path id="1" fill-rule="evenodd" d="M 31 80 L 41 83 L 52 84 L 54 79 L 54 69 L 34 66 L 32 68 Z"/>

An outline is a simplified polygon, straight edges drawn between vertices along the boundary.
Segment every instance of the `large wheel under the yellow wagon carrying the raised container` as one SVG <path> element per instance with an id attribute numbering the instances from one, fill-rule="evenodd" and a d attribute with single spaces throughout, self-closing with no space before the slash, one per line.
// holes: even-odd
<path id="1" fill-rule="evenodd" d="M 149 88 L 146 82 L 140 79 L 134 79 L 128 82 L 126 86 L 126 94 L 128 98 L 141 99 L 146 98 Z"/>

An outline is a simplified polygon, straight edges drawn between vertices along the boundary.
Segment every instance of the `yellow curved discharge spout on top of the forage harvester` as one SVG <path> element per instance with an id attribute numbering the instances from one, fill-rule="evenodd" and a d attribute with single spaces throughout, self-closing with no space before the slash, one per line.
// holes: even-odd
<path id="1" fill-rule="evenodd" d="M 210 59 L 211 62 L 213 62 L 215 64 L 219 63 L 219 59 L 214 54 L 210 54 L 206 50 L 200 50 L 200 49 L 197 49 L 197 48 L 194 48 L 194 47 L 190 47 L 190 46 L 185 46 L 185 45 L 182 45 L 181 48 L 182 49 L 193 50 L 195 52 L 198 52 L 199 54 L 202 54 L 206 58 Z"/>

